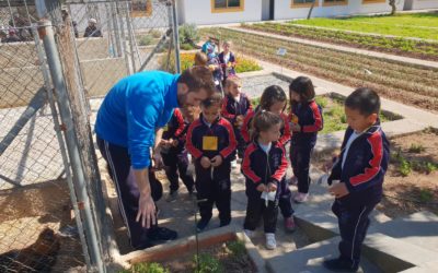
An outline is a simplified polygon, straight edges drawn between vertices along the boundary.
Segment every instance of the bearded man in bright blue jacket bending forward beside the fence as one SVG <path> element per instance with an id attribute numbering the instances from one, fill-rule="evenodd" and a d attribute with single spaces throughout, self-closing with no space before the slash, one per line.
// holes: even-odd
<path id="1" fill-rule="evenodd" d="M 159 167 L 160 128 L 169 122 L 173 109 L 198 106 L 214 93 L 211 72 L 196 67 L 181 75 L 161 71 L 136 73 L 120 80 L 103 100 L 95 123 L 97 145 L 108 163 L 120 213 L 135 249 L 177 237 L 175 232 L 155 225 L 153 185 L 149 181 L 150 152 Z M 127 179 L 130 167 L 135 181 Z"/>

